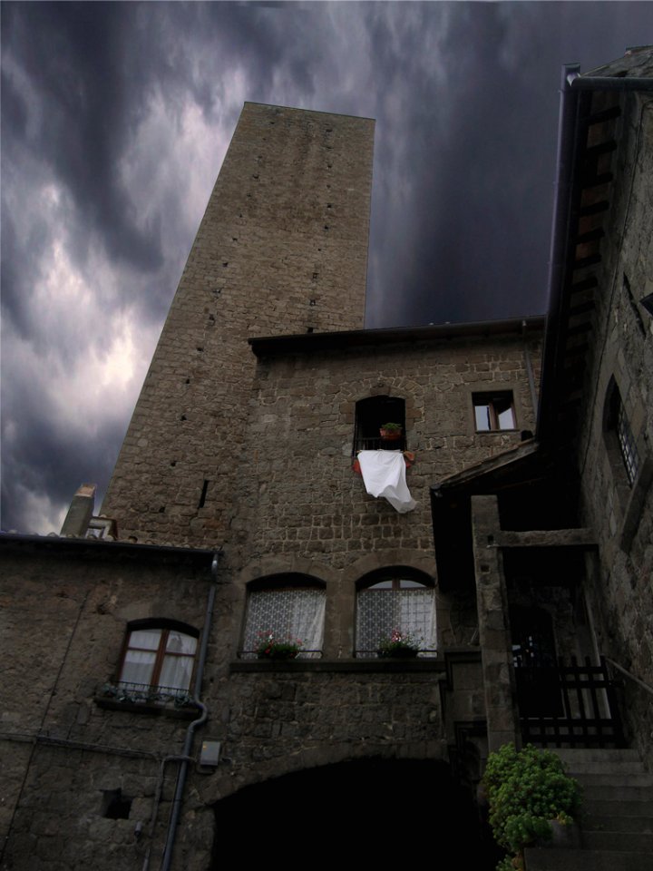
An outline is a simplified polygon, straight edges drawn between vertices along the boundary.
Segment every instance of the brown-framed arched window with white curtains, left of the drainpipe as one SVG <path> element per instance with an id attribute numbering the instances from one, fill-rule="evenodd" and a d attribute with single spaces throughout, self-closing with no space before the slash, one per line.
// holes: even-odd
<path id="1" fill-rule="evenodd" d="M 199 632 L 171 620 L 128 624 L 118 685 L 126 690 L 163 690 L 180 695 L 190 689 Z"/>

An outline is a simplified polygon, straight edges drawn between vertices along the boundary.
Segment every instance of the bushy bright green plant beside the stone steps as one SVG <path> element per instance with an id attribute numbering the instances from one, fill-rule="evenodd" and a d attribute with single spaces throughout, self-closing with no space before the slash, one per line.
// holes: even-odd
<path id="1" fill-rule="evenodd" d="M 497 871 L 520 867 L 524 847 L 551 838 L 550 820 L 571 823 L 580 807 L 580 785 L 565 774 L 560 757 L 532 744 L 521 750 L 504 744 L 491 753 L 483 784 L 494 839 L 516 857 L 506 857 Z"/>

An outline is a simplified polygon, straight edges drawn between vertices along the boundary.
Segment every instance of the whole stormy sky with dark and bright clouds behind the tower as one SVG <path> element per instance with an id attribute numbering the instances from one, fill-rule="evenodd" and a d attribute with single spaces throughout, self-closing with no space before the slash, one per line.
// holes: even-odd
<path id="1" fill-rule="evenodd" d="M 22 533 L 102 496 L 244 101 L 376 119 L 368 327 L 537 314 L 560 66 L 653 42 L 649 3 L 0 15 L 0 524 Z"/>

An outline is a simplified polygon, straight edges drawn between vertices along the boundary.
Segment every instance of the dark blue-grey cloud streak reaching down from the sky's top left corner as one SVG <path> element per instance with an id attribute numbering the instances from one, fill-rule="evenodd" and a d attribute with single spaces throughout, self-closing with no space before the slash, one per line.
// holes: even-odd
<path id="1" fill-rule="evenodd" d="M 124 11 L 127 28 L 133 11 Z M 4 51 L 20 53 L 34 101 L 5 79 L 33 130 L 22 139 L 66 185 L 88 226 L 102 232 L 107 253 L 153 269 L 161 250 L 130 220 L 131 204 L 116 174 L 137 103 L 128 103 L 132 64 L 116 15 L 105 4 L 8 4 Z M 128 32 L 128 31 L 127 31 Z M 9 147 L 13 144 L 10 129 Z"/>

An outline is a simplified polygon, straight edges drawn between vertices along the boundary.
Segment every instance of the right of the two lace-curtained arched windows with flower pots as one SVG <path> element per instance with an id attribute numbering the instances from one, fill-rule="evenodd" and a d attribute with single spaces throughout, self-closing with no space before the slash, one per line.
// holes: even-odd
<path id="1" fill-rule="evenodd" d="M 376 657 L 393 638 L 436 653 L 434 582 L 424 573 L 397 568 L 368 575 L 356 595 L 356 656 Z"/>

